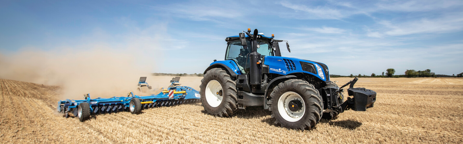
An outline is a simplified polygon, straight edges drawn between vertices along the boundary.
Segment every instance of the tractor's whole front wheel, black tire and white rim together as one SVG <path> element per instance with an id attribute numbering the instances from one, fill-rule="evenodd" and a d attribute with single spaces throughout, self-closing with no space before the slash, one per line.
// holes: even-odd
<path id="1" fill-rule="evenodd" d="M 275 124 L 290 129 L 310 130 L 323 112 L 319 91 L 312 84 L 300 79 L 290 79 L 278 84 L 269 101 Z"/>

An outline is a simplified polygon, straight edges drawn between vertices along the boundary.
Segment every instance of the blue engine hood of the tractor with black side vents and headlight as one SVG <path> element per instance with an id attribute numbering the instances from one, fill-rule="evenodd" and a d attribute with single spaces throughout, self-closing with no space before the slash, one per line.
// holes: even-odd
<path id="1" fill-rule="evenodd" d="M 281 56 L 265 56 L 264 65 L 269 66 L 270 73 L 288 75 L 294 72 L 303 72 L 323 81 L 330 80 L 328 67 L 320 62 Z"/>

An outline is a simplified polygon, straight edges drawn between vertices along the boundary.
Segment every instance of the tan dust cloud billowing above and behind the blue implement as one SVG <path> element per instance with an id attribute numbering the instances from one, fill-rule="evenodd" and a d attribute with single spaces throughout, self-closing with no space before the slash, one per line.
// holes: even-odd
<path id="1" fill-rule="evenodd" d="M 128 50 L 20 50 L 0 54 L 0 78 L 59 85 L 60 99 L 126 96 L 137 90 L 139 77 L 149 77 L 152 67 L 139 66 Z"/>

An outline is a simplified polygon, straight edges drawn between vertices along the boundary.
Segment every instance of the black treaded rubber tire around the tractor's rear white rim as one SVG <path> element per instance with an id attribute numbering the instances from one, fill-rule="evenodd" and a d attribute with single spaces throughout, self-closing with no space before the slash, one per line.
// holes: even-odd
<path id="1" fill-rule="evenodd" d="M 217 107 L 212 107 L 206 100 L 206 85 L 216 80 L 222 86 L 222 102 Z M 213 68 L 204 74 L 204 78 L 201 80 L 200 85 L 200 101 L 207 114 L 216 115 L 220 117 L 228 117 L 235 114 L 238 110 L 237 103 L 237 90 L 236 83 L 232 80 L 229 74 L 221 68 Z"/>

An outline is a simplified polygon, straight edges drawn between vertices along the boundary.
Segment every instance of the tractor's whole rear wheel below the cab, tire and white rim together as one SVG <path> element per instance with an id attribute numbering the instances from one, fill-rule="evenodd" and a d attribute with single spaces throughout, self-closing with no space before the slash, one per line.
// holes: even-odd
<path id="1" fill-rule="evenodd" d="M 236 83 L 221 68 L 213 68 L 204 74 L 200 85 L 201 102 L 207 114 L 228 117 L 237 111 Z"/>

